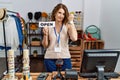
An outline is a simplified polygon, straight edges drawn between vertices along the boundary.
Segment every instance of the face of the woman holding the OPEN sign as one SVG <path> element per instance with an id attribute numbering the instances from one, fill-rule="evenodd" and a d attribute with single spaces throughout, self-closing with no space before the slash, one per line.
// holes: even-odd
<path id="1" fill-rule="evenodd" d="M 65 17 L 65 11 L 64 9 L 60 8 L 55 15 L 55 20 L 58 22 L 62 22 L 64 17 Z"/>

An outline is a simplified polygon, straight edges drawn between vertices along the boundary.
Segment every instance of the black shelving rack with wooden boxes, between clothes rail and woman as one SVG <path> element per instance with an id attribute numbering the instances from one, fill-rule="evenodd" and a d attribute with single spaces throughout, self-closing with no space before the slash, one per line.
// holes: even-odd
<path id="1" fill-rule="evenodd" d="M 39 27 L 38 22 L 28 22 L 27 23 L 27 37 L 28 37 L 28 49 L 30 50 L 30 55 L 32 51 L 36 48 L 37 51 L 44 53 L 44 48 L 41 45 L 41 40 L 43 38 L 42 28 Z"/>

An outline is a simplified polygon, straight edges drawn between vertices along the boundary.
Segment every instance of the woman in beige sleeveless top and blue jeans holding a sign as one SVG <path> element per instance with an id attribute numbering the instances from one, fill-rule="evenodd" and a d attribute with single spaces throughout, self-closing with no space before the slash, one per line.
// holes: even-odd
<path id="1" fill-rule="evenodd" d="M 62 59 L 62 70 L 71 69 L 71 56 L 69 52 L 68 41 L 77 40 L 77 31 L 73 23 L 74 15 L 69 14 L 67 7 L 57 4 L 51 15 L 52 21 L 55 21 L 55 27 L 43 28 L 42 44 L 47 48 L 45 53 L 45 67 L 47 72 L 56 71 L 56 60 Z"/>

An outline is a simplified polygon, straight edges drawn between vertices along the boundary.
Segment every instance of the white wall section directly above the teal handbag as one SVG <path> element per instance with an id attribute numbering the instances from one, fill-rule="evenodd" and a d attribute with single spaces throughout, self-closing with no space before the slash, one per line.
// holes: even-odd
<path id="1" fill-rule="evenodd" d="M 84 30 L 89 25 L 100 27 L 101 0 L 84 0 Z"/>

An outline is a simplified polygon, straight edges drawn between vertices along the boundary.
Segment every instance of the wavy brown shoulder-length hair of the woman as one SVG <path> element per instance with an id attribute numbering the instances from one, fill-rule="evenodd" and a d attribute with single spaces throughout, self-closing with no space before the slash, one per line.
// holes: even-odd
<path id="1" fill-rule="evenodd" d="M 51 19 L 52 19 L 52 21 L 55 21 L 55 14 L 57 13 L 57 11 L 60 8 L 64 9 L 64 11 L 65 11 L 65 17 L 63 19 L 63 24 L 66 24 L 68 22 L 69 12 L 68 12 L 67 7 L 62 3 L 59 3 L 54 7 L 54 9 L 52 11 Z"/>

